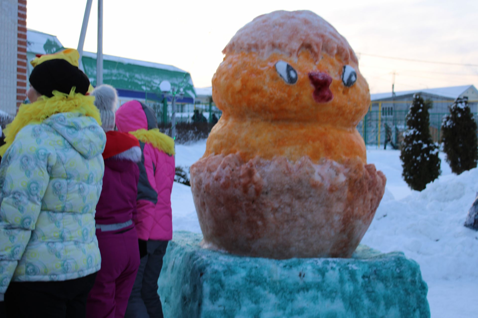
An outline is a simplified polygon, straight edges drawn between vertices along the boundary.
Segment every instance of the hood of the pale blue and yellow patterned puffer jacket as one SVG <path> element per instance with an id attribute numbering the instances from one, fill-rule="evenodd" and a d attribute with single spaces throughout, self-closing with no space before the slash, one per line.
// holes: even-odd
<path id="1" fill-rule="evenodd" d="M 58 113 L 43 121 L 86 159 L 103 153 L 106 135 L 97 121 L 80 113 Z"/>

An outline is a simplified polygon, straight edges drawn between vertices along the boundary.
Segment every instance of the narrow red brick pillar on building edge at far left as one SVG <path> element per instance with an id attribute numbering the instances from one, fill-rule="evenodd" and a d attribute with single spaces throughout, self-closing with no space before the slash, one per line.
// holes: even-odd
<path id="1" fill-rule="evenodd" d="M 27 90 L 27 0 L 18 0 L 17 111 Z"/>

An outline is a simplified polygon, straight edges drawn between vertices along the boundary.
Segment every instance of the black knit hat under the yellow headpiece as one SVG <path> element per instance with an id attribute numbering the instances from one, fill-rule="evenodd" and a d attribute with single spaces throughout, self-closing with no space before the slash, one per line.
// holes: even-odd
<path id="1" fill-rule="evenodd" d="M 86 95 L 90 84 L 84 72 L 61 59 L 35 66 L 29 80 L 37 92 L 48 97 L 53 96 L 54 90 L 69 94 L 73 86 L 76 86 L 75 92 Z"/>

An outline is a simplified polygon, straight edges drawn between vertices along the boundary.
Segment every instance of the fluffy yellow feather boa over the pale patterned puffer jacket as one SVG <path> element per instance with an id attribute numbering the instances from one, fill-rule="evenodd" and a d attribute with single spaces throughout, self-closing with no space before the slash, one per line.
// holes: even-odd
<path id="1" fill-rule="evenodd" d="M 101 126 L 101 117 L 94 104 L 95 96 L 76 93 L 75 88 L 73 86 L 69 94 L 53 91 L 53 97 L 40 96 L 34 103 L 20 105 L 15 119 L 3 130 L 5 144 L 0 147 L 0 156 L 5 154 L 23 127 L 31 123 L 42 123 L 56 113 L 80 113 L 93 117 Z"/>

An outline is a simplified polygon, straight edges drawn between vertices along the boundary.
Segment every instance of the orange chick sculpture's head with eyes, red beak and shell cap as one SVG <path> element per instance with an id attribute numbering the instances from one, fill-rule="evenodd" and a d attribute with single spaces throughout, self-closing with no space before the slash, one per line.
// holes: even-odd
<path id="1" fill-rule="evenodd" d="M 356 126 L 367 113 L 369 87 L 354 51 L 311 11 L 261 15 L 223 53 L 213 96 L 225 111 L 317 123 L 333 119 L 342 127 Z"/>

